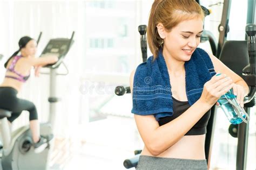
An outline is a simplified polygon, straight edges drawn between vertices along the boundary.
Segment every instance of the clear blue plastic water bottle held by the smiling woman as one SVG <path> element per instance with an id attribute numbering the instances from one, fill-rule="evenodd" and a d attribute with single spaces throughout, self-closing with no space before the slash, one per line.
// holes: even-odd
<path id="1" fill-rule="evenodd" d="M 217 74 L 218 76 L 220 74 Z M 218 100 L 221 109 L 224 111 L 228 121 L 232 124 L 240 124 L 242 122 L 248 123 L 250 117 L 247 115 L 244 108 L 237 102 L 237 96 L 233 94 L 233 89 L 221 96 Z M 246 120 L 247 118 L 247 120 Z"/>

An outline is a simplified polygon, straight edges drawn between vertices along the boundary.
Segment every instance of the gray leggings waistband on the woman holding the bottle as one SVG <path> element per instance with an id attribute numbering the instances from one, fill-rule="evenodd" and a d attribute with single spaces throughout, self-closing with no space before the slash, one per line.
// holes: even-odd
<path id="1" fill-rule="evenodd" d="M 137 170 L 187 170 L 187 169 L 200 169 L 207 170 L 206 159 L 178 159 L 178 158 L 160 158 L 151 157 L 147 155 L 140 155 Z"/>

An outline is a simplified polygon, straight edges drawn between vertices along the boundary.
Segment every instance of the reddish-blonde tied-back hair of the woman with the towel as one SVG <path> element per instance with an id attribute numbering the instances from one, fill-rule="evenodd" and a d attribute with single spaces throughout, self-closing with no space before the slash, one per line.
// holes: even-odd
<path id="1" fill-rule="evenodd" d="M 157 25 L 163 24 L 167 31 L 184 20 L 201 18 L 205 15 L 201 6 L 194 0 L 155 0 L 147 25 L 147 43 L 153 58 L 156 59 L 159 49 L 163 46 L 163 39 L 160 38 Z"/>

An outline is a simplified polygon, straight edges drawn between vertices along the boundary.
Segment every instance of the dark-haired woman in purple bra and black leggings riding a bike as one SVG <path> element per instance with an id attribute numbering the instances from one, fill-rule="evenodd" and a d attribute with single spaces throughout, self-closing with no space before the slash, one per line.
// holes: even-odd
<path id="1" fill-rule="evenodd" d="M 12 111 L 8 117 L 10 124 L 21 115 L 23 110 L 29 111 L 30 129 L 32 133 L 35 152 L 39 153 L 47 146 L 46 142 L 51 138 L 40 136 L 39 121 L 35 104 L 28 100 L 17 97 L 23 83 L 29 79 L 30 70 L 35 68 L 35 75 L 38 76 L 39 68 L 44 65 L 58 61 L 56 56 L 35 58 L 37 42 L 30 37 L 22 37 L 19 42 L 19 49 L 5 62 L 6 74 L 0 84 L 0 108 Z M 18 55 L 18 53 L 21 54 Z"/>

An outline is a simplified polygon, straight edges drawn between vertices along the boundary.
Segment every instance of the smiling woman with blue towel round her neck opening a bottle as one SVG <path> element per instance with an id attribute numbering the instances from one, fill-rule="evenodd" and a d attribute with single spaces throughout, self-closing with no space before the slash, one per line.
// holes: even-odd
<path id="1" fill-rule="evenodd" d="M 153 2 L 147 27 L 153 56 L 130 76 L 132 113 L 144 142 L 137 169 L 206 170 L 209 110 L 231 88 L 243 105 L 246 82 L 198 48 L 203 20 L 194 0 Z"/>

